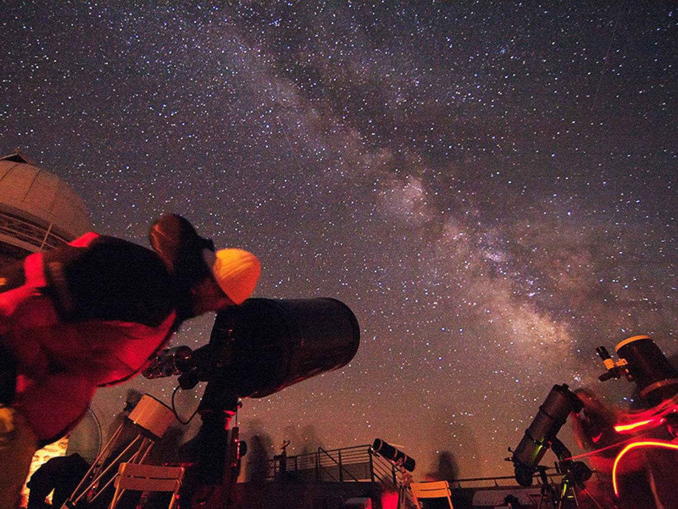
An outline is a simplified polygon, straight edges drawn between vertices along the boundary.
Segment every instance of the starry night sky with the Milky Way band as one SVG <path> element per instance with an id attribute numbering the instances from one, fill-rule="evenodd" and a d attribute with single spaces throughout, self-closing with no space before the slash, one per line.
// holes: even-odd
<path id="1" fill-rule="evenodd" d="M 0 140 L 100 233 L 146 245 L 178 212 L 258 255 L 257 297 L 353 309 L 353 361 L 245 400 L 243 434 L 510 474 L 553 384 L 631 395 L 597 345 L 678 350 L 677 22 L 669 1 L 8 0 Z"/>

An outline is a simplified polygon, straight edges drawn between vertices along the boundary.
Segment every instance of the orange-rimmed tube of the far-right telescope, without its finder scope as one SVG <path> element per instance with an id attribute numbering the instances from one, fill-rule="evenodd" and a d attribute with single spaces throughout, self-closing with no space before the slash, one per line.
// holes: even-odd
<path id="1" fill-rule="evenodd" d="M 678 372 L 650 336 L 629 337 L 615 350 L 628 362 L 626 369 L 650 405 L 654 407 L 678 393 Z"/>

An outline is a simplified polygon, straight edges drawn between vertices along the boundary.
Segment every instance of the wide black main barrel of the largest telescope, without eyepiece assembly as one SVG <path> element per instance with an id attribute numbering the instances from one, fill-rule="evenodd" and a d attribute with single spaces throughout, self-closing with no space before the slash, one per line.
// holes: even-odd
<path id="1" fill-rule="evenodd" d="M 210 345 L 228 343 L 220 388 L 262 398 L 348 364 L 360 329 L 336 299 L 247 299 L 216 316 Z"/>

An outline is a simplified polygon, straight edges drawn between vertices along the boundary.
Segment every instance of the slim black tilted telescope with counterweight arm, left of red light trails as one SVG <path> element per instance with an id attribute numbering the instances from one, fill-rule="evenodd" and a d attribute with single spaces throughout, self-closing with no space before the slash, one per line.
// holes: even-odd
<path id="1" fill-rule="evenodd" d="M 565 383 L 553 385 L 549 396 L 540 405 L 539 412 L 525 430 L 523 439 L 513 451 L 510 461 L 515 467 L 515 479 L 521 486 L 532 485 L 532 477 L 539 462 L 549 448 L 561 461 L 561 466 L 570 473 L 572 480 L 580 483 L 591 477 L 591 470 L 581 461 L 572 461 L 572 453 L 557 438 L 560 428 L 570 413 L 579 413 L 584 407 L 574 392 Z"/>

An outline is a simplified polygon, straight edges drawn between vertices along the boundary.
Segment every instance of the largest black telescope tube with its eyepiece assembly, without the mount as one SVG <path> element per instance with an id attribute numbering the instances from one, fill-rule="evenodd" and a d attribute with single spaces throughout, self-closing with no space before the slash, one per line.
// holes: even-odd
<path id="1" fill-rule="evenodd" d="M 163 350 L 142 374 L 180 375 L 184 390 L 206 381 L 201 410 L 220 408 L 233 398 L 263 398 L 339 369 L 359 344 L 357 318 L 341 301 L 247 299 L 217 314 L 210 343 Z"/>

